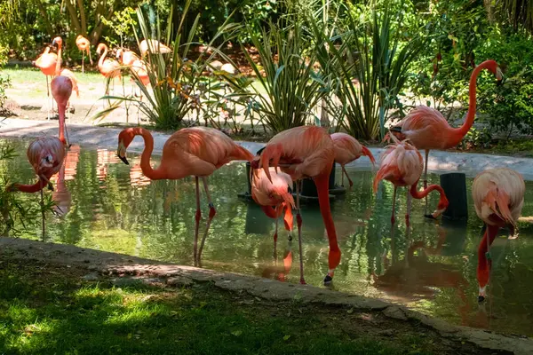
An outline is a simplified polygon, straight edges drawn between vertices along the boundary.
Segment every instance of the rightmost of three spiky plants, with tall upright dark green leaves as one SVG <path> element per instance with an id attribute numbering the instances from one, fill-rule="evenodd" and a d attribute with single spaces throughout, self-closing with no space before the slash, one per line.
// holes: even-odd
<path id="1" fill-rule="evenodd" d="M 322 67 L 338 78 L 337 96 L 346 115 L 341 124 L 354 137 L 364 139 L 385 135 L 388 110 L 398 103 L 410 64 L 424 44 L 417 36 L 405 38 L 393 26 L 395 15 L 388 7 L 375 10 L 368 22 L 346 12 L 347 32 L 324 38 L 332 56 L 325 47 L 320 56 Z M 318 28 L 315 36 L 323 37 Z"/>

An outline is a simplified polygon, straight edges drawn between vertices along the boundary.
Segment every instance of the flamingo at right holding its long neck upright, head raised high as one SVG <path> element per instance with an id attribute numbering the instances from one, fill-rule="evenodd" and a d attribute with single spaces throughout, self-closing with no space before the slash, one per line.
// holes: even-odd
<path id="1" fill-rule="evenodd" d="M 476 80 L 482 69 L 488 69 L 496 75 L 497 81 L 503 78 L 496 61 L 489 59 L 473 69 L 468 87 L 469 101 L 465 122 L 461 127 L 453 128 L 444 116 L 428 106 L 417 106 L 401 122 L 391 127 L 391 132 L 400 140 L 409 139 L 417 149 L 426 150 L 424 168 L 424 188 L 427 187 L 427 159 L 431 149 L 449 149 L 457 146 L 473 125 L 476 110 Z M 388 136 L 388 135 L 387 135 Z M 426 212 L 427 213 L 427 200 Z"/>

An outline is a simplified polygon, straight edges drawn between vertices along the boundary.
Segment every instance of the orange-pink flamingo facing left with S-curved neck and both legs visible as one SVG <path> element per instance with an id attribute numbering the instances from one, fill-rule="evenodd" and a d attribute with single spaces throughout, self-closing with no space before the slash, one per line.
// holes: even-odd
<path id="1" fill-rule="evenodd" d="M 253 155 L 237 145 L 231 138 L 219 130 L 208 127 L 191 127 L 178 130 L 171 135 L 163 146 L 161 164 L 157 169 L 150 166 L 150 156 L 154 150 L 154 138 L 148 130 L 140 127 L 128 128 L 118 135 L 118 157 L 126 164 L 126 149 L 135 136 L 141 136 L 145 142 L 145 149 L 140 156 L 140 169 L 152 180 L 180 179 L 194 176 L 196 185 L 196 214 L 195 214 L 195 265 L 200 264 L 203 243 L 209 231 L 211 221 L 217 210 L 211 201 L 211 194 L 207 187 L 207 177 L 228 162 L 245 160 L 251 162 Z M 200 187 L 198 177 L 202 177 L 203 189 L 209 202 L 209 218 L 202 243 L 198 249 L 198 231 L 200 225 Z M 196 252 L 197 251 L 197 252 Z"/>

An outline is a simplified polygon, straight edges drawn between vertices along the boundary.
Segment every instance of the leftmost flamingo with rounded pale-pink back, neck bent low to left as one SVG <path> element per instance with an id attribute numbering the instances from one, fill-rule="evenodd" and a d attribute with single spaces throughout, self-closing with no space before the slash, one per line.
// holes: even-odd
<path id="1" fill-rule="evenodd" d="M 29 146 L 26 152 L 28 162 L 35 170 L 38 181 L 33 185 L 13 184 L 8 186 L 8 191 L 20 191 L 23 193 L 41 192 L 41 206 L 44 205 L 44 186 L 53 190 L 50 178 L 60 171 L 65 159 L 65 145 L 60 139 L 55 137 L 36 138 Z M 43 217 L 43 238 L 44 238 L 44 209 Z"/>

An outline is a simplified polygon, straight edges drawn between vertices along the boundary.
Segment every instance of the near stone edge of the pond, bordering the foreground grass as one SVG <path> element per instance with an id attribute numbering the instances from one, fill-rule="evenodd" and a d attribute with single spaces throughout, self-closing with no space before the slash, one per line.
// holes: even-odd
<path id="1" fill-rule="evenodd" d="M 216 272 L 192 266 L 167 264 L 136 256 L 79 248 L 51 242 L 0 237 L 0 252 L 15 259 L 34 259 L 53 264 L 76 265 L 103 275 L 130 276 L 146 282 L 162 282 L 169 286 L 187 286 L 211 282 L 230 291 L 245 291 L 251 296 L 269 300 L 295 301 L 309 304 L 330 304 L 358 310 L 382 312 L 386 317 L 404 321 L 419 321 L 440 335 L 462 342 L 474 343 L 491 351 L 513 351 L 533 354 L 533 339 L 520 335 L 500 335 L 491 331 L 449 324 L 408 307 L 386 303 L 379 299 L 348 295 L 327 288 L 284 283 L 230 272 Z M 97 276 L 87 275 L 87 280 Z"/>

